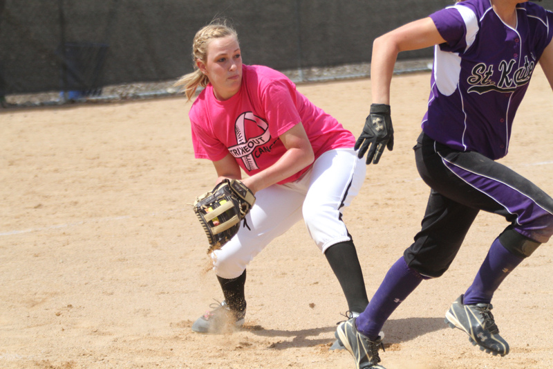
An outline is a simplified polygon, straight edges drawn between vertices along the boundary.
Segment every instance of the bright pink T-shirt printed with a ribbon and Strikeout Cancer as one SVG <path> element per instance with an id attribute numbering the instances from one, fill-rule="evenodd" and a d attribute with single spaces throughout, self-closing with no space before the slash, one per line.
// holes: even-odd
<path id="1" fill-rule="evenodd" d="M 196 158 L 218 161 L 230 152 L 252 175 L 286 152 L 279 136 L 303 123 L 315 160 L 328 150 L 353 147 L 355 138 L 312 104 L 285 75 L 266 66 L 242 66 L 241 89 L 225 101 L 208 84 L 189 111 Z M 295 181 L 308 168 L 279 183 Z"/>

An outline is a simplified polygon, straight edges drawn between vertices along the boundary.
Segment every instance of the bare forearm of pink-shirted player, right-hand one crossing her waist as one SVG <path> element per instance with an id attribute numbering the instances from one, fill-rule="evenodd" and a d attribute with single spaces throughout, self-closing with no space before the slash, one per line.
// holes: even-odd
<path id="1" fill-rule="evenodd" d="M 269 168 L 243 179 L 243 183 L 256 193 L 263 188 L 268 188 L 279 183 L 283 179 L 296 174 L 315 160 L 315 154 L 311 147 L 308 149 L 292 148 L 284 153 L 281 158 Z"/>

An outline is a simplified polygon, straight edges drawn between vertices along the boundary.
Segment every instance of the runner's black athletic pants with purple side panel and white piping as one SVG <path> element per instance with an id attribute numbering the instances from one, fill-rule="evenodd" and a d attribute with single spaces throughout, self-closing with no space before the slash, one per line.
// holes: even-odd
<path id="1" fill-rule="evenodd" d="M 423 276 L 447 271 L 480 210 L 505 217 L 529 240 L 543 243 L 553 234 L 553 199 L 505 165 L 478 152 L 453 150 L 424 133 L 414 150 L 431 192 L 421 231 L 404 258 Z"/>

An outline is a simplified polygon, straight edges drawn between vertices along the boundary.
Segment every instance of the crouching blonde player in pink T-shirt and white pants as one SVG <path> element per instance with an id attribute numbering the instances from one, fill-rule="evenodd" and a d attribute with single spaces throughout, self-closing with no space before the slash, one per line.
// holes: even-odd
<path id="1" fill-rule="evenodd" d="M 335 272 L 350 314 L 364 311 L 362 269 L 341 220 L 365 178 L 355 138 L 282 73 L 243 65 L 236 31 L 225 24 L 200 29 L 193 48 L 195 71 L 176 85 L 189 100 L 205 87 L 189 111 L 195 156 L 213 162 L 217 183 L 243 181 L 256 202 L 247 227 L 211 254 L 225 300 L 192 330 L 221 332 L 229 319 L 243 325 L 247 264 L 302 218 Z"/>

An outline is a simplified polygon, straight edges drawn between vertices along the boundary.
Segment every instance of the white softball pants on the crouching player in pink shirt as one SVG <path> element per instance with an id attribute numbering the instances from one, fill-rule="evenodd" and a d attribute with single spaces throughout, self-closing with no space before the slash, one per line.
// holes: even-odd
<path id="1" fill-rule="evenodd" d="M 255 255 L 302 217 L 323 253 L 333 244 L 349 241 L 341 208 L 359 193 L 365 174 L 364 159 L 358 159 L 353 148 L 330 150 L 296 181 L 257 192 L 245 218 L 250 229 L 241 226 L 232 240 L 211 254 L 216 275 L 241 276 Z"/>

